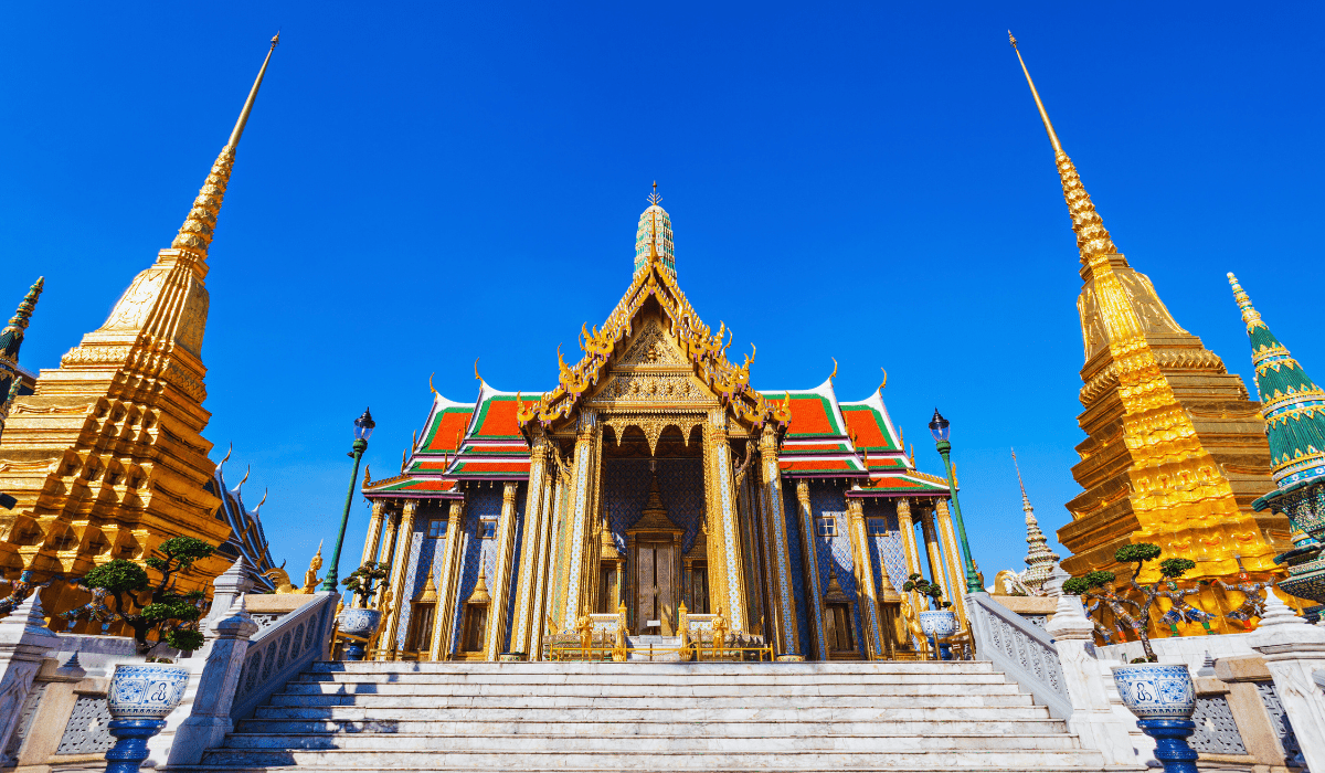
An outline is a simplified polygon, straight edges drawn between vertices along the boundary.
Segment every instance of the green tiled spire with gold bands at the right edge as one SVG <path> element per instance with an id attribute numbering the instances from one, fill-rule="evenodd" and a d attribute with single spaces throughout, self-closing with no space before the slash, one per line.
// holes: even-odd
<path id="1" fill-rule="evenodd" d="M 1276 487 L 1252 506 L 1288 516 L 1292 524 L 1293 549 L 1275 558 L 1288 570 L 1279 587 L 1325 603 L 1325 391 L 1269 331 L 1238 277 L 1230 273 L 1228 284 L 1251 339 Z"/>

